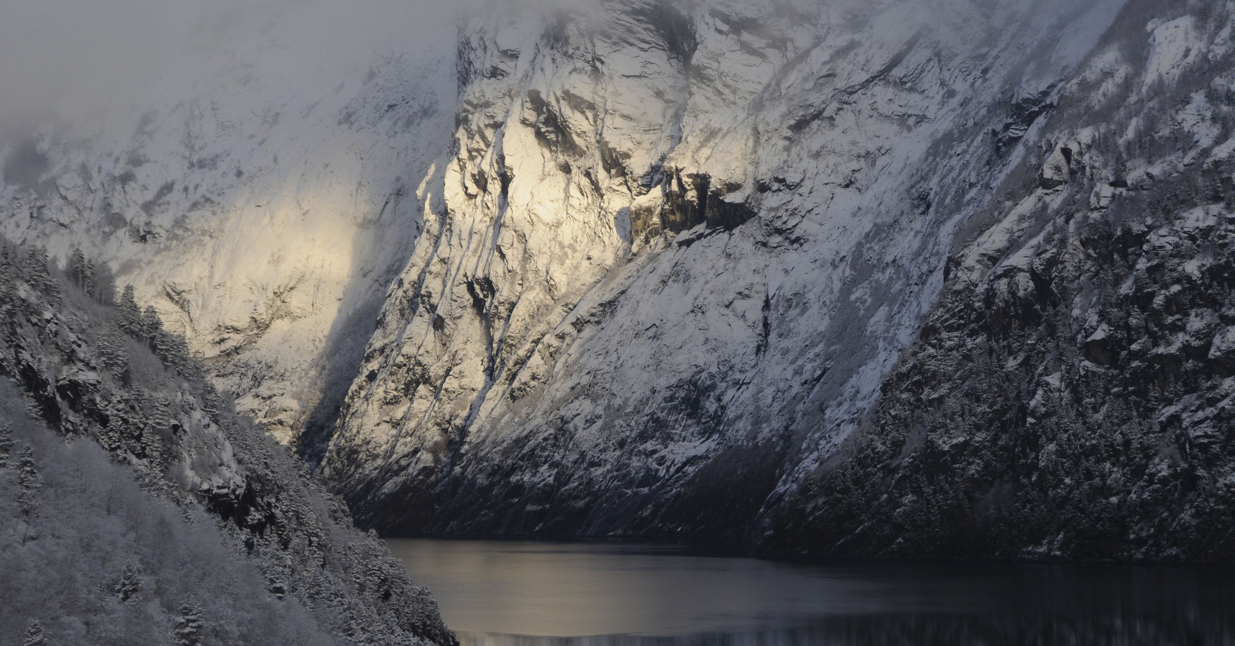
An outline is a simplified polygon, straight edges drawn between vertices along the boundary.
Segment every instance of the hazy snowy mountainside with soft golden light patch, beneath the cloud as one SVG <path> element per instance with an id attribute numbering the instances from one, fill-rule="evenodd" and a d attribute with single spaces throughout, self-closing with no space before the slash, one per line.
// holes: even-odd
<path id="1" fill-rule="evenodd" d="M 342 16 L 295 9 L 233 27 L 131 104 L 65 115 L 0 187 L 4 235 L 109 263 L 283 441 L 333 422 L 420 233 L 456 95 L 452 30 L 310 56 L 300 40 L 337 41 Z"/>

